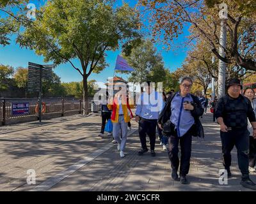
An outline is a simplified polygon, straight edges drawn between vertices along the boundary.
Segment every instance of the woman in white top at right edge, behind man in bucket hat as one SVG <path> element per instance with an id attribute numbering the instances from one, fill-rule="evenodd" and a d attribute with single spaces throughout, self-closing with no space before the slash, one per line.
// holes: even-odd
<path id="1" fill-rule="evenodd" d="M 248 87 L 244 89 L 244 96 L 251 101 L 254 114 L 256 115 L 256 100 L 253 100 L 255 92 L 252 88 Z M 249 171 L 256 172 L 256 139 L 252 137 L 253 128 L 250 122 L 248 122 L 248 131 L 250 131 Z"/>

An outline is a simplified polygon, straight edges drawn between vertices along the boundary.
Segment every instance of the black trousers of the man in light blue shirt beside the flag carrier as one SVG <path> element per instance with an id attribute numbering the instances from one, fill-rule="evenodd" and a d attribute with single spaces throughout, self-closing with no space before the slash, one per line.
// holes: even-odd
<path id="1" fill-rule="evenodd" d="M 157 120 L 148 120 L 143 117 L 140 118 L 139 122 L 139 135 L 141 147 L 147 149 L 146 136 L 148 135 L 150 140 L 150 150 L 155 150 L 156 144 L 156 126 Z"/>

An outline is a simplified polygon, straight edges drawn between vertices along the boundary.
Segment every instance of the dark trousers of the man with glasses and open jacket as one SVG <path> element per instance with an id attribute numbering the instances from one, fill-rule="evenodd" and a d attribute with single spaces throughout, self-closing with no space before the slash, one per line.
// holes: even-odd
<path id="1" fill-rule="evenodd" d="M 177 130 L 169 138 L 168 156 L 171 161 L 172 170 L 178 171 L 179 168 L 179 142 L 180 142 L 180 175 L 187 175 L 190 166 L 192 135 L 191 129 L 178 137 Z"/>

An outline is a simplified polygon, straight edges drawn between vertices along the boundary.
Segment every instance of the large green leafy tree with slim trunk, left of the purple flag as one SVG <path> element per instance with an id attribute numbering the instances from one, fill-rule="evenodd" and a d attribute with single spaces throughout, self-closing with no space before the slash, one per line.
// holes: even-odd
<path id="1" fill-rule="evenodd" d="M 140 20 L 136 12 L 124 4 L 113 9 L 115 1 L 52 0 L 38 11 L 33 26 L 26 26 L 17 41 L 21 47 L 43 55 L 45 62 L 70 62 L 84 80 L 84 101 L 87 101 L 87 79 L 92 72 L 106 68 L 108 50 L 115 51 L 119 43 L 130 48 L 140 38 Z M 79 59 L 80 66 L 74 66 Z M 84 103 L 84 113 L 88 113 Z"/>

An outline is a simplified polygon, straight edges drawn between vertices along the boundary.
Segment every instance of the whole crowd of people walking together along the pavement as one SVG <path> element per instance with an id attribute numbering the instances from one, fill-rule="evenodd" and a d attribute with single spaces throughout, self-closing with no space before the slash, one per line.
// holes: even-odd
<path id="1" fill-rule="evenodd" d="M 202 94 L 191 94 L 193 80 L 182 78 L 179 91 L 172 90 L 161 94 L 154 90 L 147 82 L 145 91 L 141 92 L 136 104 L 135 120 L 138 122 L 141 149 L 138 155 L 148 152 L 147 136 L 150 140 L 150 155 L 156 156 L 156 131 L 163 150 L 168 151 L 172 167 L 171 177 L 180 180 L 181 184 L 189 184 L 186 175 L 189 173 L 192 138 L 204 138 L 204 128 L 200 117 L 207 112 L 208 99 Z M 227 85 L 227 94 L 220 99 L 211 101 L 213 121 L 220 124 L 220 138 L 222 143 L 223 166 L 228 178 L 231 154 L 236 146 L 239 170 L 241 171 L 241 185 L 256 190 L 256 184 L 250 179 L 249 173 L 256 172 L 256 101 L 253 89 L 246 88 L 241 94 L 243 86 L 239 79 L 232 79 Z M 120 157 L 124 157 L 127 141 L 128 123 L 132 115 L 129 97 L 124 92 L 117 92 L 108 105 L 102 105 L 102 128 L 99 136 L 104 134 L 106 121 L 113 122 L 113 141 L 117 142 Z M 131 127 L 131 123 L 130 123 Z M 111 133 L 108 133 L 111 135 Z M 180 158 L 179 158 L 180 146 Z M 179 170 L 179 175 L 178 175 Z"/>

